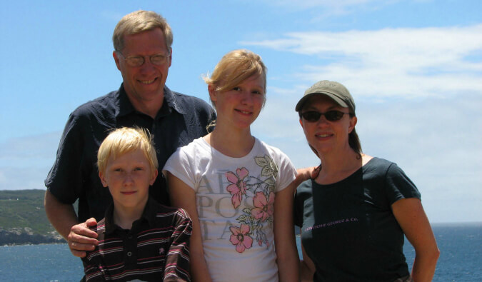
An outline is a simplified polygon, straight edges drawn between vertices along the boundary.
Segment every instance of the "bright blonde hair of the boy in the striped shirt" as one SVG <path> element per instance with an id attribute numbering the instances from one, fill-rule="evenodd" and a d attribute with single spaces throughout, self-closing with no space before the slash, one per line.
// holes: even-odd
<path id="1" fill-rule="evenodd" d="M 112 157 L 114 160 L 124 153 L 141 149 L 149 161 L 151 172 L 158 167 L 156 149 L 151 134 L 146 129 L 123 127 L 115 129 L 102 141 L 97 152 L 97 167 L 99 172 L 105 173 L 107 162 Z"/>

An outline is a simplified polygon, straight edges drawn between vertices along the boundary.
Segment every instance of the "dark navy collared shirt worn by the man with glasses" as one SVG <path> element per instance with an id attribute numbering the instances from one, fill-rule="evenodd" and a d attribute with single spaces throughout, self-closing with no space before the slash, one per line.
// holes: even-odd
<path id="1" fill-rule="evenodd" d="M 80 222 L 90 217 L 99 221 L 112 198 L 99 179 L 97 151 L 112 129 L 123 126 L 148 129 L 154 136 L 160 171 L 176 148 L 206 135 L 206 126 L 214 119 L 216 114 L 205 101 L 176 93 L 167 86 L 164 86 L 164 103 L 152 119 L 134 109 L 121 85 L 118 91 L 89 101 L 71 113 L 45 186 L 62 203 L 79 199 Z M 149 194 L 169 206 L 162 173 L 149 188 Z"/>

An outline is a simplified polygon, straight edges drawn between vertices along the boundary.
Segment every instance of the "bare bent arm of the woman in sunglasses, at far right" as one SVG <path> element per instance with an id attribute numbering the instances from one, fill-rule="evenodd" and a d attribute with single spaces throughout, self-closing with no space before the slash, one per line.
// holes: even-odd
<path id="1" fill-rule="evenodd" d="M 403 198 L 393 203 L 391 208 L 403 233 L 415 248 L 413 281 L 432 281 L 440 251 L 421 201 L 418 198 Z"/>

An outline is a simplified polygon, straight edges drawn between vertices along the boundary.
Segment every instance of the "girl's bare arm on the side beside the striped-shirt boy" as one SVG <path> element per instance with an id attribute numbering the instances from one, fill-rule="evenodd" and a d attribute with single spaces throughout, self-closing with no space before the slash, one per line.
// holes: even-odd
<path id="1" fill-rule="evenodd" d="M 211 276 L 209 275 L 209 269 L 204 259 L 201 226 L 196 208 L 196 192 L 170 172 L 167 174 L 167 182 L 171 204 L 177 208 L 184 208 L 193 221 L 193 233 L 191 234 L 189 244 L 192 281 L 209 282 L 211 281 Z"/>

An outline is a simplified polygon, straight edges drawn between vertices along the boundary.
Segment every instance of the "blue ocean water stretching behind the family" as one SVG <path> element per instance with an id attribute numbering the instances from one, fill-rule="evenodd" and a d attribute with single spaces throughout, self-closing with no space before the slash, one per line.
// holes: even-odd
<path id="1" fill-rule="evenodd" d="M 433 281 L 482 281 L 482 223 L 432 228 L 441 250 Z M 415 251 L 408 241 L 403 252 L 411 266 Z M 79 281 L 83 271 L 66 244 L 0 246 L 0 281 Z"/>

